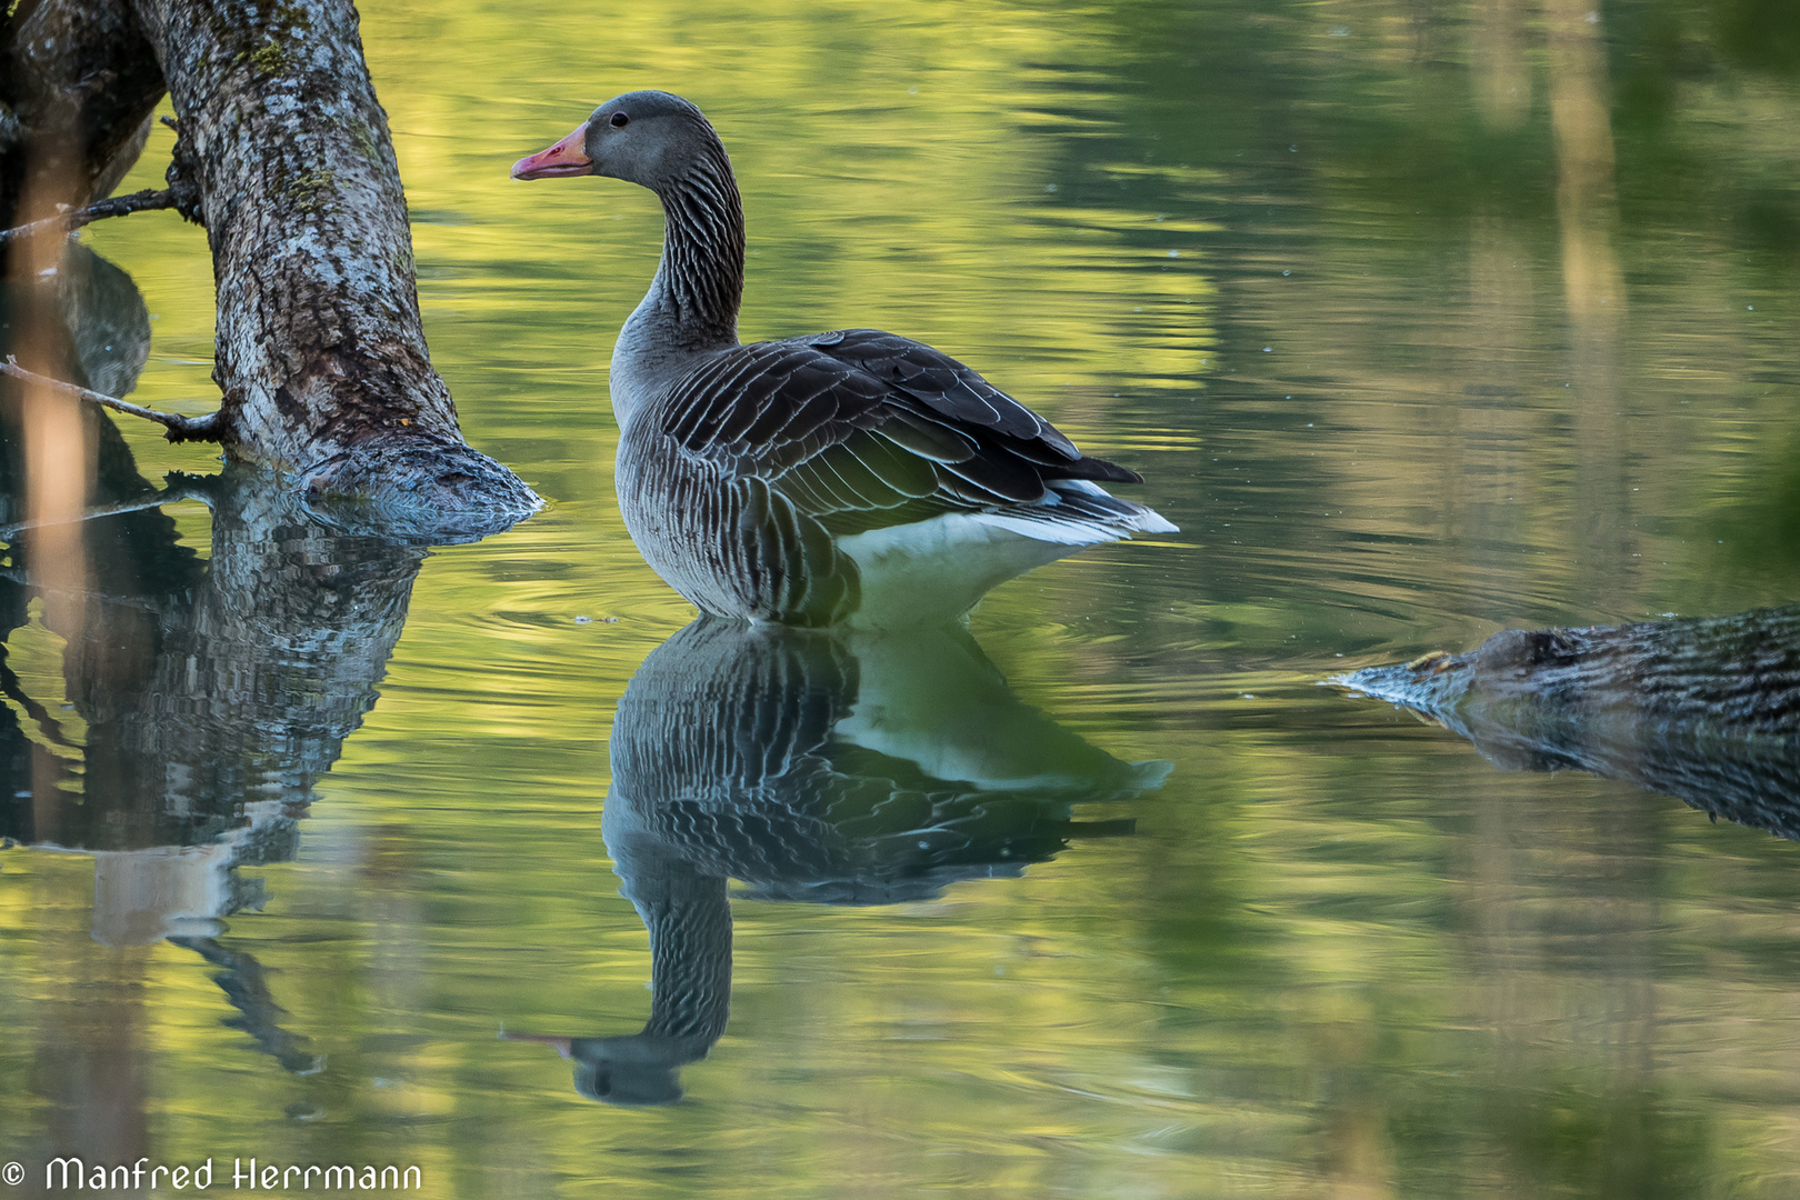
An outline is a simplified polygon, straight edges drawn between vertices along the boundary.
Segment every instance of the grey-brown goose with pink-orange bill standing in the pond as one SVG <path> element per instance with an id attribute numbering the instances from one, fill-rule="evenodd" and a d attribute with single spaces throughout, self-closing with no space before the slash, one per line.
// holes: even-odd
<path id="1" fill-rule="evenodd" d="M 706 613 L 932 624 L 1082 547 L 1175 533 L 970 367 L 880 329 L 738 342 L 743 203 L 689 101 L 628 92 L 513 178 L 599 175 L 662 201 L 662 259 L 612 351 L 614 482 L 644 560 Z"/>

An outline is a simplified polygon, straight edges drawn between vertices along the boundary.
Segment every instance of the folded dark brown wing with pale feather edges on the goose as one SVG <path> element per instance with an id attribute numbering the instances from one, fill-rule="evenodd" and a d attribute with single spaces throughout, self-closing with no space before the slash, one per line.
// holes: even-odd
<path id="1" fill-rule="evenodd" d="M 1012 396 L 878 329 L 740 345 L 679 387 L 684 453 L 761 479 L 833 534 L 1048 498 L 1060 479 L 1141 482 Z"/>

